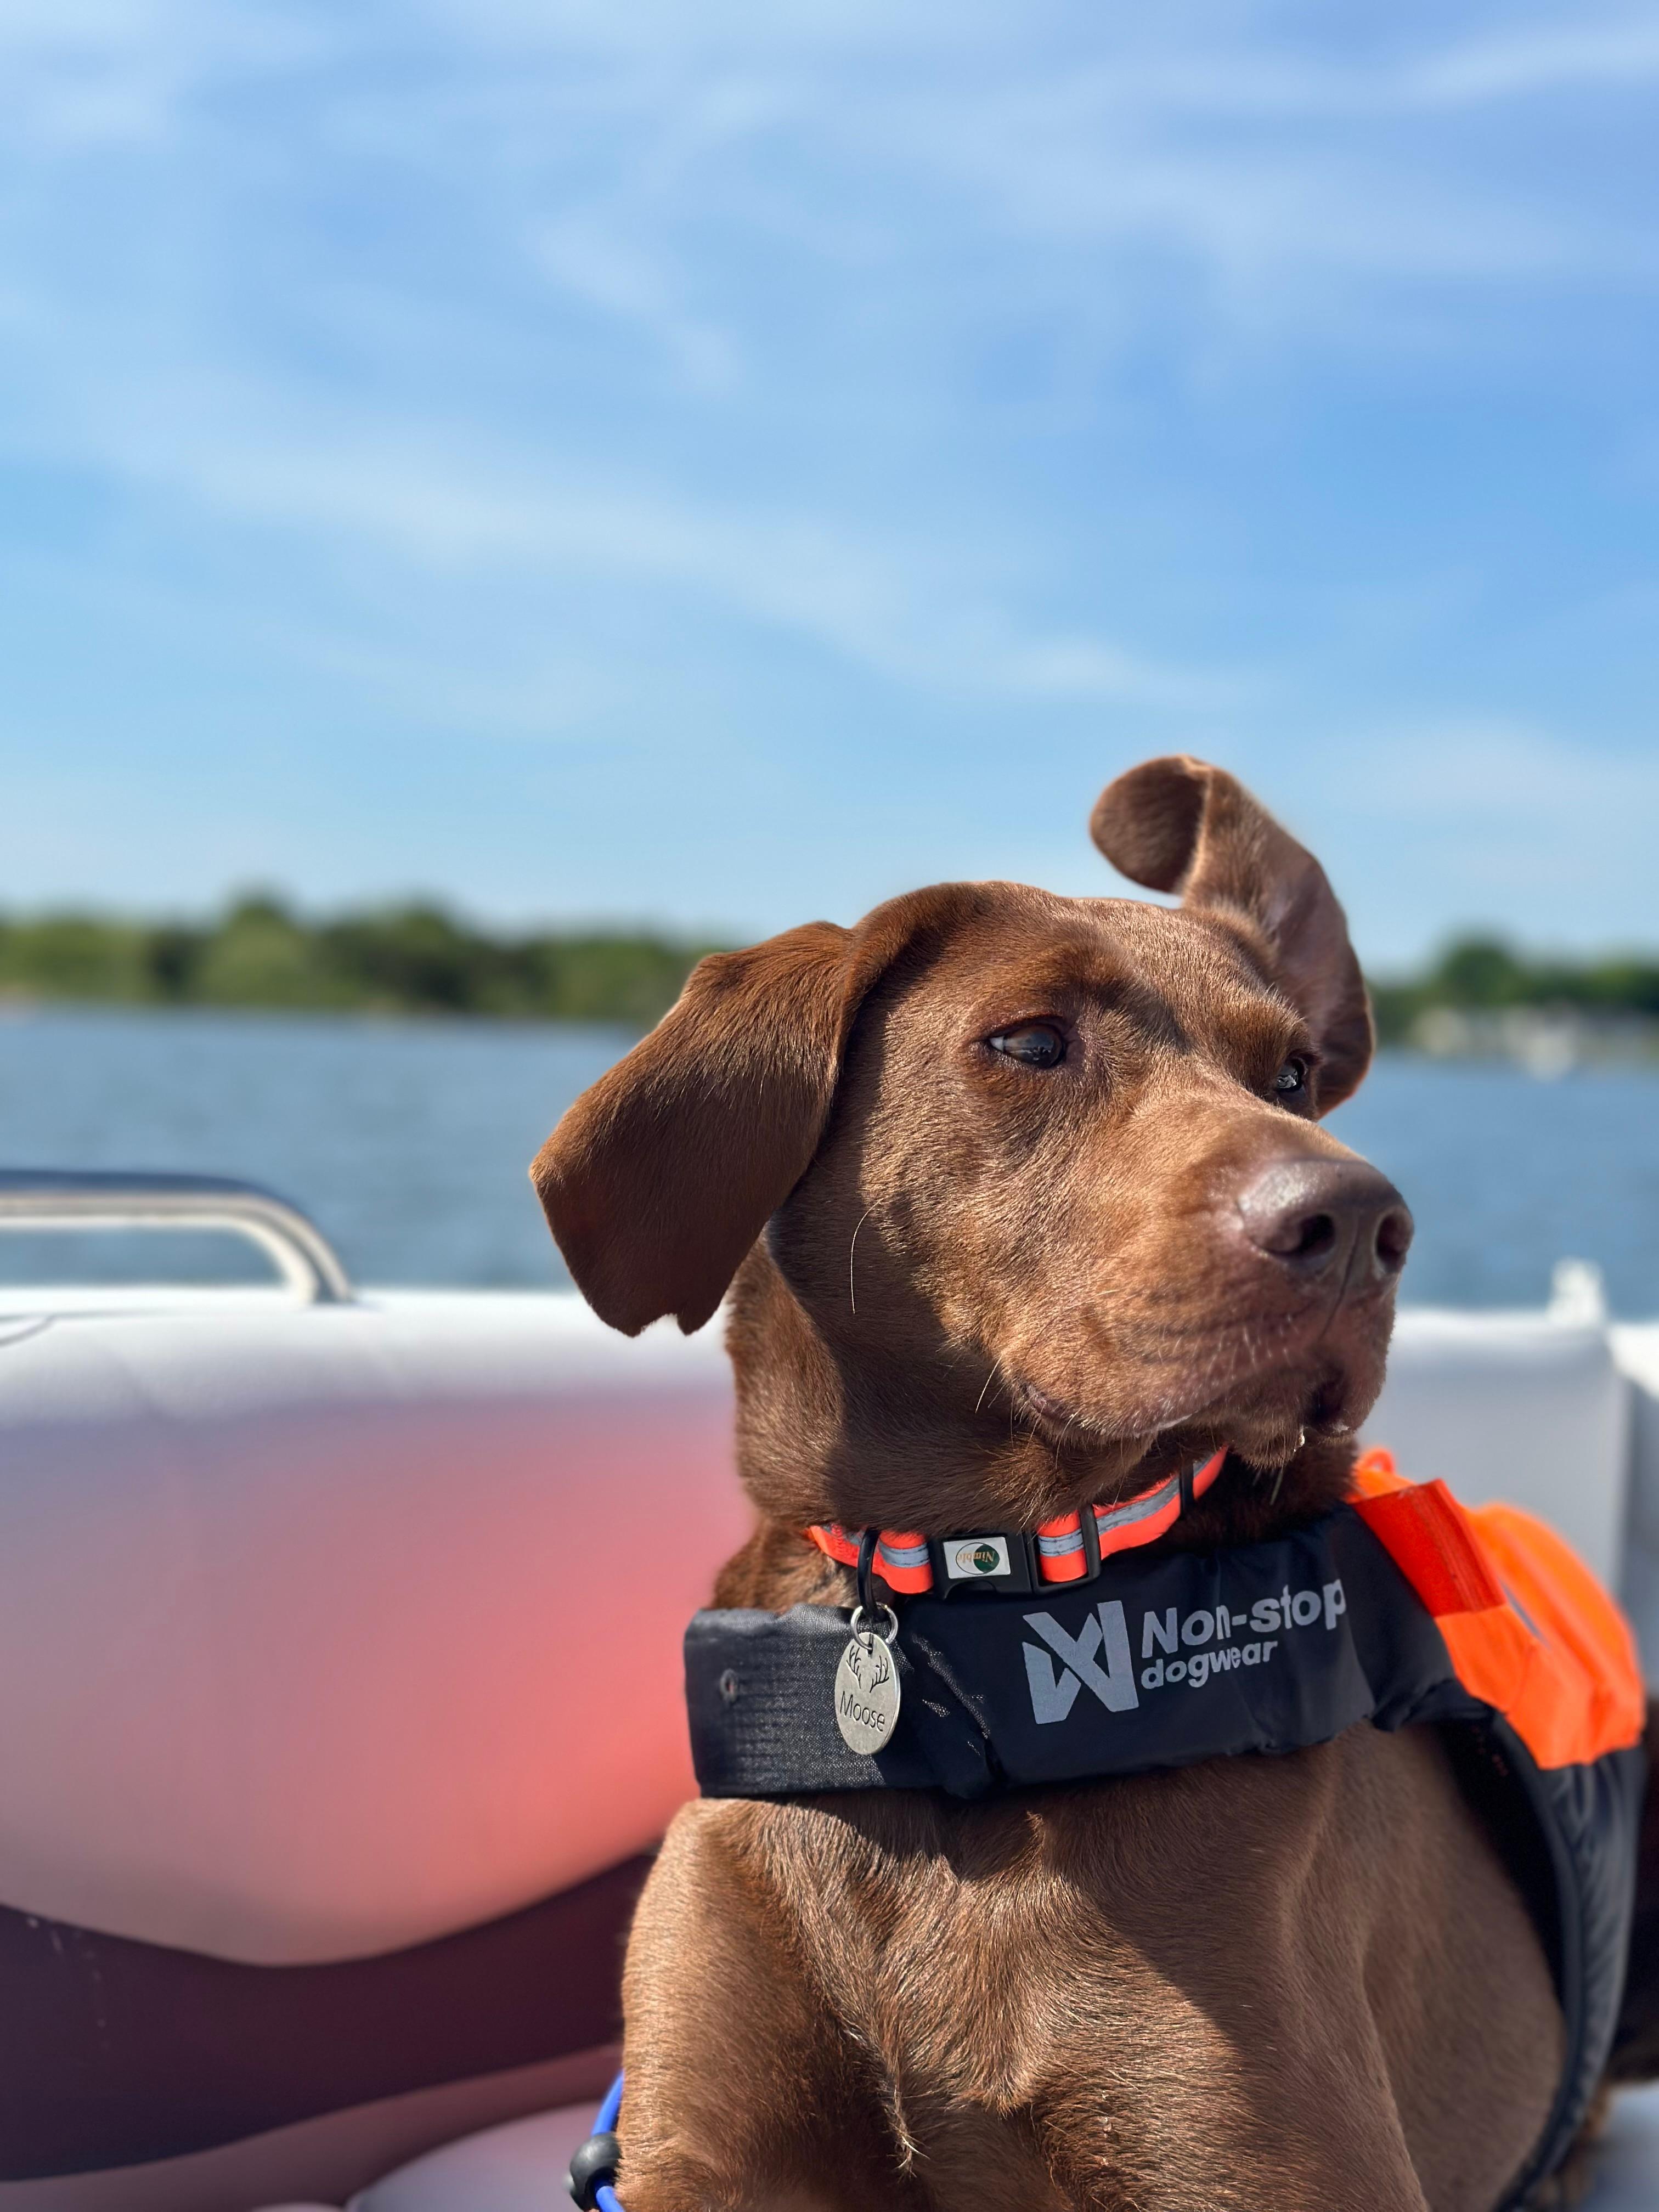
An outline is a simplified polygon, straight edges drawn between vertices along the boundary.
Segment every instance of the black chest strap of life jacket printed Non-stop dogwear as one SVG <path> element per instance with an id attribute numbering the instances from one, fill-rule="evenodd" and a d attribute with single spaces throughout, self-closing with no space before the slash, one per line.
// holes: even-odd
<path id="1" fill-rule="evenodd" d="M 902 1606 L 894 1741 L 834 1721 L 849 1617 L 699 1613 L 686 1632 L 706 1796 L 1082 1781 L 1327 1743 L 1356 1721 L 1478 1717 L 1433 1619 L 1365 1522 L 1228 1553 L 1119 1555 L 1079 1588 Z"/>

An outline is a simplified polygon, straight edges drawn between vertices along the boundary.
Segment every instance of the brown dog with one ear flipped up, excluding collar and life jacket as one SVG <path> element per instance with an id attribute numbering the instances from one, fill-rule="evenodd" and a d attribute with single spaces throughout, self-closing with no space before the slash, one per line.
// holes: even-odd
<path id="1" fill-rule="evenodd" d="M 942 885 L 703 960 L 535 1164 L 615 1327 L 732 1290 L 759 1526 L 719 1604 L 852 1604 L 812 1522 L 1035 1526 L 1221 1444 L 1166 1544 L 1347 1489 L 1411 1219 L 1318 1128 L 1371 1057 L 1343 911 L 1199 761 L 1093 832 L 1181 905 Z M 1559 2048 L 1427 1730 L 975 1805 L 699 1801 L 628 1949 L 619 2192 L 1489 2212 Z"/>

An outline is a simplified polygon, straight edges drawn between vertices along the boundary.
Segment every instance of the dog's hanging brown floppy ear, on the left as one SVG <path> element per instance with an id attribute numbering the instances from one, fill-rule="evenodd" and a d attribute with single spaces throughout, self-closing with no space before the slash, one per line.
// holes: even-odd
<path id="1" fill-rule="evenodd" d="M 969 885 L 894 898 L 856 929 L 807 922 L 692 969 L 661 1022 L 571 1106 L 531 1166 L 577 1290 L 637 1336 L 701 1329 L 818 1148 L 876 978 Z"/>

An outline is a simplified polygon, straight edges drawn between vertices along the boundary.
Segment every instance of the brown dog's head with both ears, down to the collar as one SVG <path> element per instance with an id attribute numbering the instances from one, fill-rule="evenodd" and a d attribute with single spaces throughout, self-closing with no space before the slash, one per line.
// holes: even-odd
<path id="1" fill-rule="evenodd" d="M 1044 1517 L 1378 1394 L 1411 1217 L 1318 1128 L 1371 1057 L 1323 869 L 1186 757 L 1093 834 L 1181 905 L 940 885 L 703 960 L 535 1161 L 615 1327 L 737 1279 L 774 1513 Z"/>

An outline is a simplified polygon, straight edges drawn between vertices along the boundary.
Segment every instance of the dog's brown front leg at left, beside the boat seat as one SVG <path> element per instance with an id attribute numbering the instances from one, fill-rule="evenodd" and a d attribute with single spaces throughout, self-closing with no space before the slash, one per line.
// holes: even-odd
<path id="1" fill-rule="evenodd" d="M 768 1816 L 686 1805 L 639 1900 L 617 2194 L 628 2212 L 920 2208 L 867 2064 L 807 1978 Z"/>

